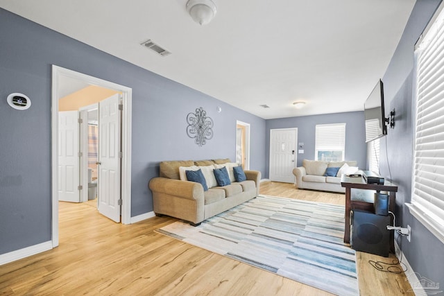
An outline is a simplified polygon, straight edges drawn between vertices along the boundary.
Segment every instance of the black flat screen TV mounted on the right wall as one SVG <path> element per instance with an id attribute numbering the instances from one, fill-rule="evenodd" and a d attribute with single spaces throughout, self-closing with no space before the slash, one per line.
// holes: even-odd
<path id="1" fill-rule="evenodd" d="M 366 143 L 387 134 L 384 115 L 384 85 L 380 79 L 364 103 L 364 116 L 366 119 Z"/>

